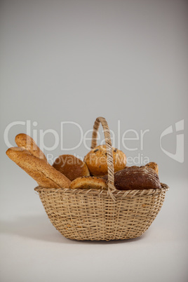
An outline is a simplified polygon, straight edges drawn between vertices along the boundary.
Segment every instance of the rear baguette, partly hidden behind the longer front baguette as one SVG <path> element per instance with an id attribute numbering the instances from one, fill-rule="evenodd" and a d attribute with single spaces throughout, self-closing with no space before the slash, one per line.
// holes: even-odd
<path id="1" fill-rule="evenodd" d="M 15 136 L 15 143 L 18 145 L 18 147 L 21 147 L 23 149 L 26 149 L 34 156 L 37 156 L 40 159 L 46 159 L 45 154 L 41 151 L 41 149 L 36 145 L 32 137 L 25 133 L 20 133 Z"/>

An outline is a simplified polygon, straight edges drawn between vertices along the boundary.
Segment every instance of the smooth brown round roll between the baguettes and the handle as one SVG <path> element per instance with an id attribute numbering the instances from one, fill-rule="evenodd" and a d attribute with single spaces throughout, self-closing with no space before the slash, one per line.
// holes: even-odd
<path id="1" fill-rule="evenodd" d="M 65 154 L 58 156 L 53 163 L 53 168 L 59 170 L 60 173 L 64 174 L 71 181 L 81 176 L 90 175 L 86 163 L 73 155 Z"/>

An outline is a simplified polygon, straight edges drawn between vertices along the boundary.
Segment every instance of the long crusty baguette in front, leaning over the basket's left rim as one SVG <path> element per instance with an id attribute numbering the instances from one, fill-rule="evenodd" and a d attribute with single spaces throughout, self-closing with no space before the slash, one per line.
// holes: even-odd
<path id="1" fill-rule="evenodd" d="M 9 148 L 6 154 L 36 180 L 39 186 L 46 188 L 69 188 L 71 181 L 49 163 L 46 163 L 46 160 L 39 159 L 20 147 Z"/>

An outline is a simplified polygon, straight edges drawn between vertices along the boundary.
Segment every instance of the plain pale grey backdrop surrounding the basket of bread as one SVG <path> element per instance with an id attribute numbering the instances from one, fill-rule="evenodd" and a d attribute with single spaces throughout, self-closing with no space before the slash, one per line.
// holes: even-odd
<path id="1" fill-rule="evenodd" d="M 9 0 L 1 1 L 0 13 L 1 281 L 187 281 L 187 1 Z M 170 186 L 142 240 L 64 239 L 34 194 L 36 182 L 5 154 L 4 130 L 13 121 L 31 121 L 37 134 L 53 129 L 60 135 L 62 121 L 79 123 L 86 133 L 97 116 L 107 119 L 116 147 L 118 122 L 121 137 L 128 129 L 149 130 L 143 150 L 139 141 L 127 142 L 136 151 L 122 142 L 119 148 L 159 163 L 161 182 Z M 181 120 L 184 163 L 164 154 L 159 142 L 163 130 L 175 131 Z M 22 132 L 25 126 L 11 128 L 12 145 Z M 74 146 L 78 128 L 69 124 L 63 138 Z M 46 135 L 46 145 L 53 142 Z M 176 133 L 162 145 L 175 154 Z M 82 143 L 68 154 L 87 152 Z M 58 146 L 52 153 L 67 152 Z"/>

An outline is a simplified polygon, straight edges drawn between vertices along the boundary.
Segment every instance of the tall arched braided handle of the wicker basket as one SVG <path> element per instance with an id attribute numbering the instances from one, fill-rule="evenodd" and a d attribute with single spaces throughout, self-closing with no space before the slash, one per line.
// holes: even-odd
<path id="1" fill-rule="evenodd" d="M 108 192 L 111 198 L 116 201 L 113 192 L 116 191 L 116 188 L 114 187 L 114 160 L 113 160 L 113 154 L 112 154 L 112 142 L 109 132 L 108 123 L 105 118 L 102 116 L 99 116 L 94 123 L 93 126 L 93 135 L 92 135 L 92 141 L 90 149 L 93 149 L 97 146 L 97 137 L 98 137 L 98 128 L 100 126 L 100 123 L 102 124 L 102 128 L 104 130 L 105 135 L 105 143 L 107 147 L 107 168 L 108 168 Z"/>

